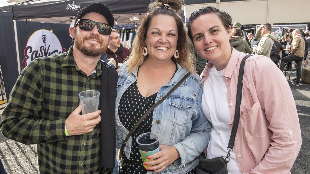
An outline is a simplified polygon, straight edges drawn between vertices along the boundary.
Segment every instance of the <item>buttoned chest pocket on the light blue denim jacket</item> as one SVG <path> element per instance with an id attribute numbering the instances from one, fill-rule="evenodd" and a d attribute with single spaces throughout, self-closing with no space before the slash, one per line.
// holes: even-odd
<path id="1" fill-rule="evenodd" d="M 193 114 L 193 101 L 181 98 L 170 97 L 170 121 L 177 125 L 185 125 L 189 122 L 189 115 Z"/>

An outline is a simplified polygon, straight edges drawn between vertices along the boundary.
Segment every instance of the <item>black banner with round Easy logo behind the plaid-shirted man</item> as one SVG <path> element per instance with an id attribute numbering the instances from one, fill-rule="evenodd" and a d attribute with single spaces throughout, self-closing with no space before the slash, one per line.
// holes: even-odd
<path id="1" fill-rule="evenodd" d="M 38 57 L 60 54 L 72 46 L 69 24 L 16 21 L 16 26 L 21 70 Z"/>

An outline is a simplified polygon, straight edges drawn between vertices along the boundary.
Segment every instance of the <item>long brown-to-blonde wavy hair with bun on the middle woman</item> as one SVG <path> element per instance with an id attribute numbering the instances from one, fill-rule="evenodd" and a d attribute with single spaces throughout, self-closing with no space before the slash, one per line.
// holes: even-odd
<path id="1" fill-rule="evenodd" d="M 176 63 L 180 64 L 188 72 L 196 73 L 193 44 L 189 40 L 182 19 L 177 14 L 177 11 L 179 11 L 181 7 L 181 0 L 157 0 L 155 2 L 152 2 L 148 6 L 149 13 L 143 18 L 142 23 L 138 28 L 138 32 L 133 44 L 133 49 L 131 51 L 131 54 L 127 58 L 127 61 L 129 61 L 127 71 L 135 71 L 138 66 L 142 65 L 144 59 L 148 58 L 148 55 L 142 55 L 142 51 L 144 49 L 144 43 L 146 41 L 146 33 L 153 17 L 157 15 L 169 15 L 175 19 L 179 36 L 177 41 L 179 59 L 175 59 L 174 56 L 172 56 L 171 59 L 173 59 Z"/>

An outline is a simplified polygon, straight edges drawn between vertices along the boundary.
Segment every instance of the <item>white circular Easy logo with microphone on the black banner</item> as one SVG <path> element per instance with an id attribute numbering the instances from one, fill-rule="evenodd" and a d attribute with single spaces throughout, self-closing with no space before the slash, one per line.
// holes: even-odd
<path id="1" fill-rule="evenodd" d="M 45 29 L 37 30 L 27 41 L 21 68 L 24 69 L 27 64 L 38 57 L 47 57 L 65 51 L 54 33 Z"/>

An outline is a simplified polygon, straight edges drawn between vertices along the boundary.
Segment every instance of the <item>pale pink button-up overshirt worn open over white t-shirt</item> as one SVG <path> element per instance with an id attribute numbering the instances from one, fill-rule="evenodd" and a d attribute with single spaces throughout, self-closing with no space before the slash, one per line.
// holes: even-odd
<path id="1" fill-rule="evenodd" d="M 239 67 L 245 56 L 233 48 L 223 74 L 232 120 Z M 201 75 L 202 84 L 211 65 L 209 62 Z M 232 129 L 232 122 L 229 126 Z M 240 121 L 233 147 L 241 173 L 290 173 L 300 146 L 297 109 L 285 76 L 268 57 L 250 56 L 244 68 Z"/>

